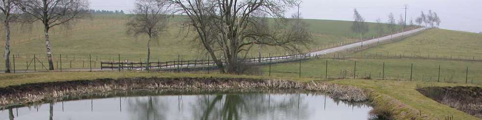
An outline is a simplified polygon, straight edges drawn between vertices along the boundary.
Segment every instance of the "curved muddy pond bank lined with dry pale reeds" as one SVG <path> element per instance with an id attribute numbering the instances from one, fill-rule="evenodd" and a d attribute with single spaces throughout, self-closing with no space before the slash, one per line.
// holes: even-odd
<path id="1" fill-rule="evenodd" d="M 30 83 L 0 88 L 0 105 L 60 101 L 66 96 L 139 89 L 271 89 L 306 90 L 347 101 L 365 101 L 363 90 L 324 82 L 295 82 L 244 78 L 130 78 Z"/>

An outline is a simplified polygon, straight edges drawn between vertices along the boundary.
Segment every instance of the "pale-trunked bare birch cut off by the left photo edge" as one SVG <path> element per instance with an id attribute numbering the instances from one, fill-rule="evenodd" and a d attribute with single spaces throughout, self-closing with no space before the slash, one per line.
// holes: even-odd
<path id="1" fill-rule="evenodd" d="M 10 73 L 10 22 L 14 21 L 18 15 L 18 10 L 14 0 L 1 0 L 0 10 L 2 12 L 3 28 L 5 31 L 5 73 Z"/>

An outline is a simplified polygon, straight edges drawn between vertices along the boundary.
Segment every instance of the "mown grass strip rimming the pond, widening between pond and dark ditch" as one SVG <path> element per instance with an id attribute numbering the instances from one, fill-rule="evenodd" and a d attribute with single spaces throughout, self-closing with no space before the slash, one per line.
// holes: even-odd
<path id="1" fill-rule="evenodd" d="M 422 111 L 424 116 L 441 118 L 454 116 L 456 120 L 478 120 L 468 114 L 450 108 L 431 100 L 415 89 L 417 86 L 480 86 L 474 84 L 456 84 L 444 82 L 421 82 L 421 81 L 393 81 L 393 80 L 325 80 L 313 78 L 284 78 L 284 77 L 260 77 L 260 76 L 235 76 L 235 75 L 207 75 L 207 74 L 174 74 L 174 73 L 117 73 L 117 72 L 41 72 L 25 74 L 0 74 L 0 87 L 19 85 L 24 83 L 67 81 L 67 80 L 95 80 L 102 78 L 134 78 L 134 77 L 220 77 L 220 78 L 260 78 L 275 80 L 295 81 L 327 81 L 343 85 L 353 85 L 373 90 L 387 96 L 389 101 L 398 100 L 409 108 Z M 399 109 L 405 109 L 400 107 Z"/>

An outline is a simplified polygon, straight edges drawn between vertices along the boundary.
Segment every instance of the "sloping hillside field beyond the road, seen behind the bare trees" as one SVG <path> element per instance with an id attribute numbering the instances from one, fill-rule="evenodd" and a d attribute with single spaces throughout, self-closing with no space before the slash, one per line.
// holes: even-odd
<path id="1" fill-rule="evenodd" d="M 147 41 L 145 36 L 134 38 L 126 34 L 125 23 L 128 20 L 126 15 L 94 15 L 87 20 L 78 20 L 75 24 L 69 26 L 69 29 L 63 26 L 51 29 L 51 45 L 54 62 L 59 62 L 60 54 L 62 54 L 63 68 L 86 67 L 85 62 L 88 60 L 89 54 L 92 59 L 99 61 L 118 60 L 118 54 L 121 54 L 121 60 L 145 61 Z M 171 20 L 169 29 L 159 40 L 151 43 L 152 61 L 177 60 L 180 56 L 184 60 L 200 60 L 206 59 L 205 53 L 199 46 L 193 45 L 192 39 L 195 33 L 191 31 L 187 35 L 180 26 L 180 21 L 185 20 L 184 17 L 174 17 Z M 354 42 L 358 40 L 359 35 L 353 33 L 350 29 L 351 21 L 340 20 L 305 20 L 310 24 L 310 30 L 313 32 L 312 44 L 309 44 L 305 51 L 329 48 L 337 46 L 340 42 Z M 375 23 L 369 23 L 369 27 L 374 29 Z M 385 26 L 385 25 L 384 25 Z M 387 30 L 387 29 L 386 29 Z M 388 32 L 386 32 L 388 33 Z M 45 40 L 43 39 L 43 27 L 36 24 L 22 25 L 14 24 L 12 27 L 12 46 L 11 53 L 17 55 L 16 67 L 25 69 L 26 62 L 30 62 L 33 55 L 37 55 L 44 64 L 46 63 Z M 366 34 L 365 38 L 375 36 L 375 30 L 371 30 Z M 3 38 L 3 34 L 0 37 Z M 4 40 L 0 40 L 0 44 L 4 44 Z M 263 47 L 263 54 L 267 56 L 285 55 L 286 52 L 282 48 Z M 0 50 L 3 52 L 3 49 Z M 257 46 L 254 46 L 249 56 L 256 57 L 258 53 Z M 0 63 L 4 62 L 3 59 Z M 82 65 L 84 62 L 84 65 Z M 56 63 L 54 63 L 56 64 Z M 30 68 L 33 66 L 30 65 Z M 41 68 L 41 66 L 37 66 Z M 0 66 L 4 69 L 4 66 Z"/>

